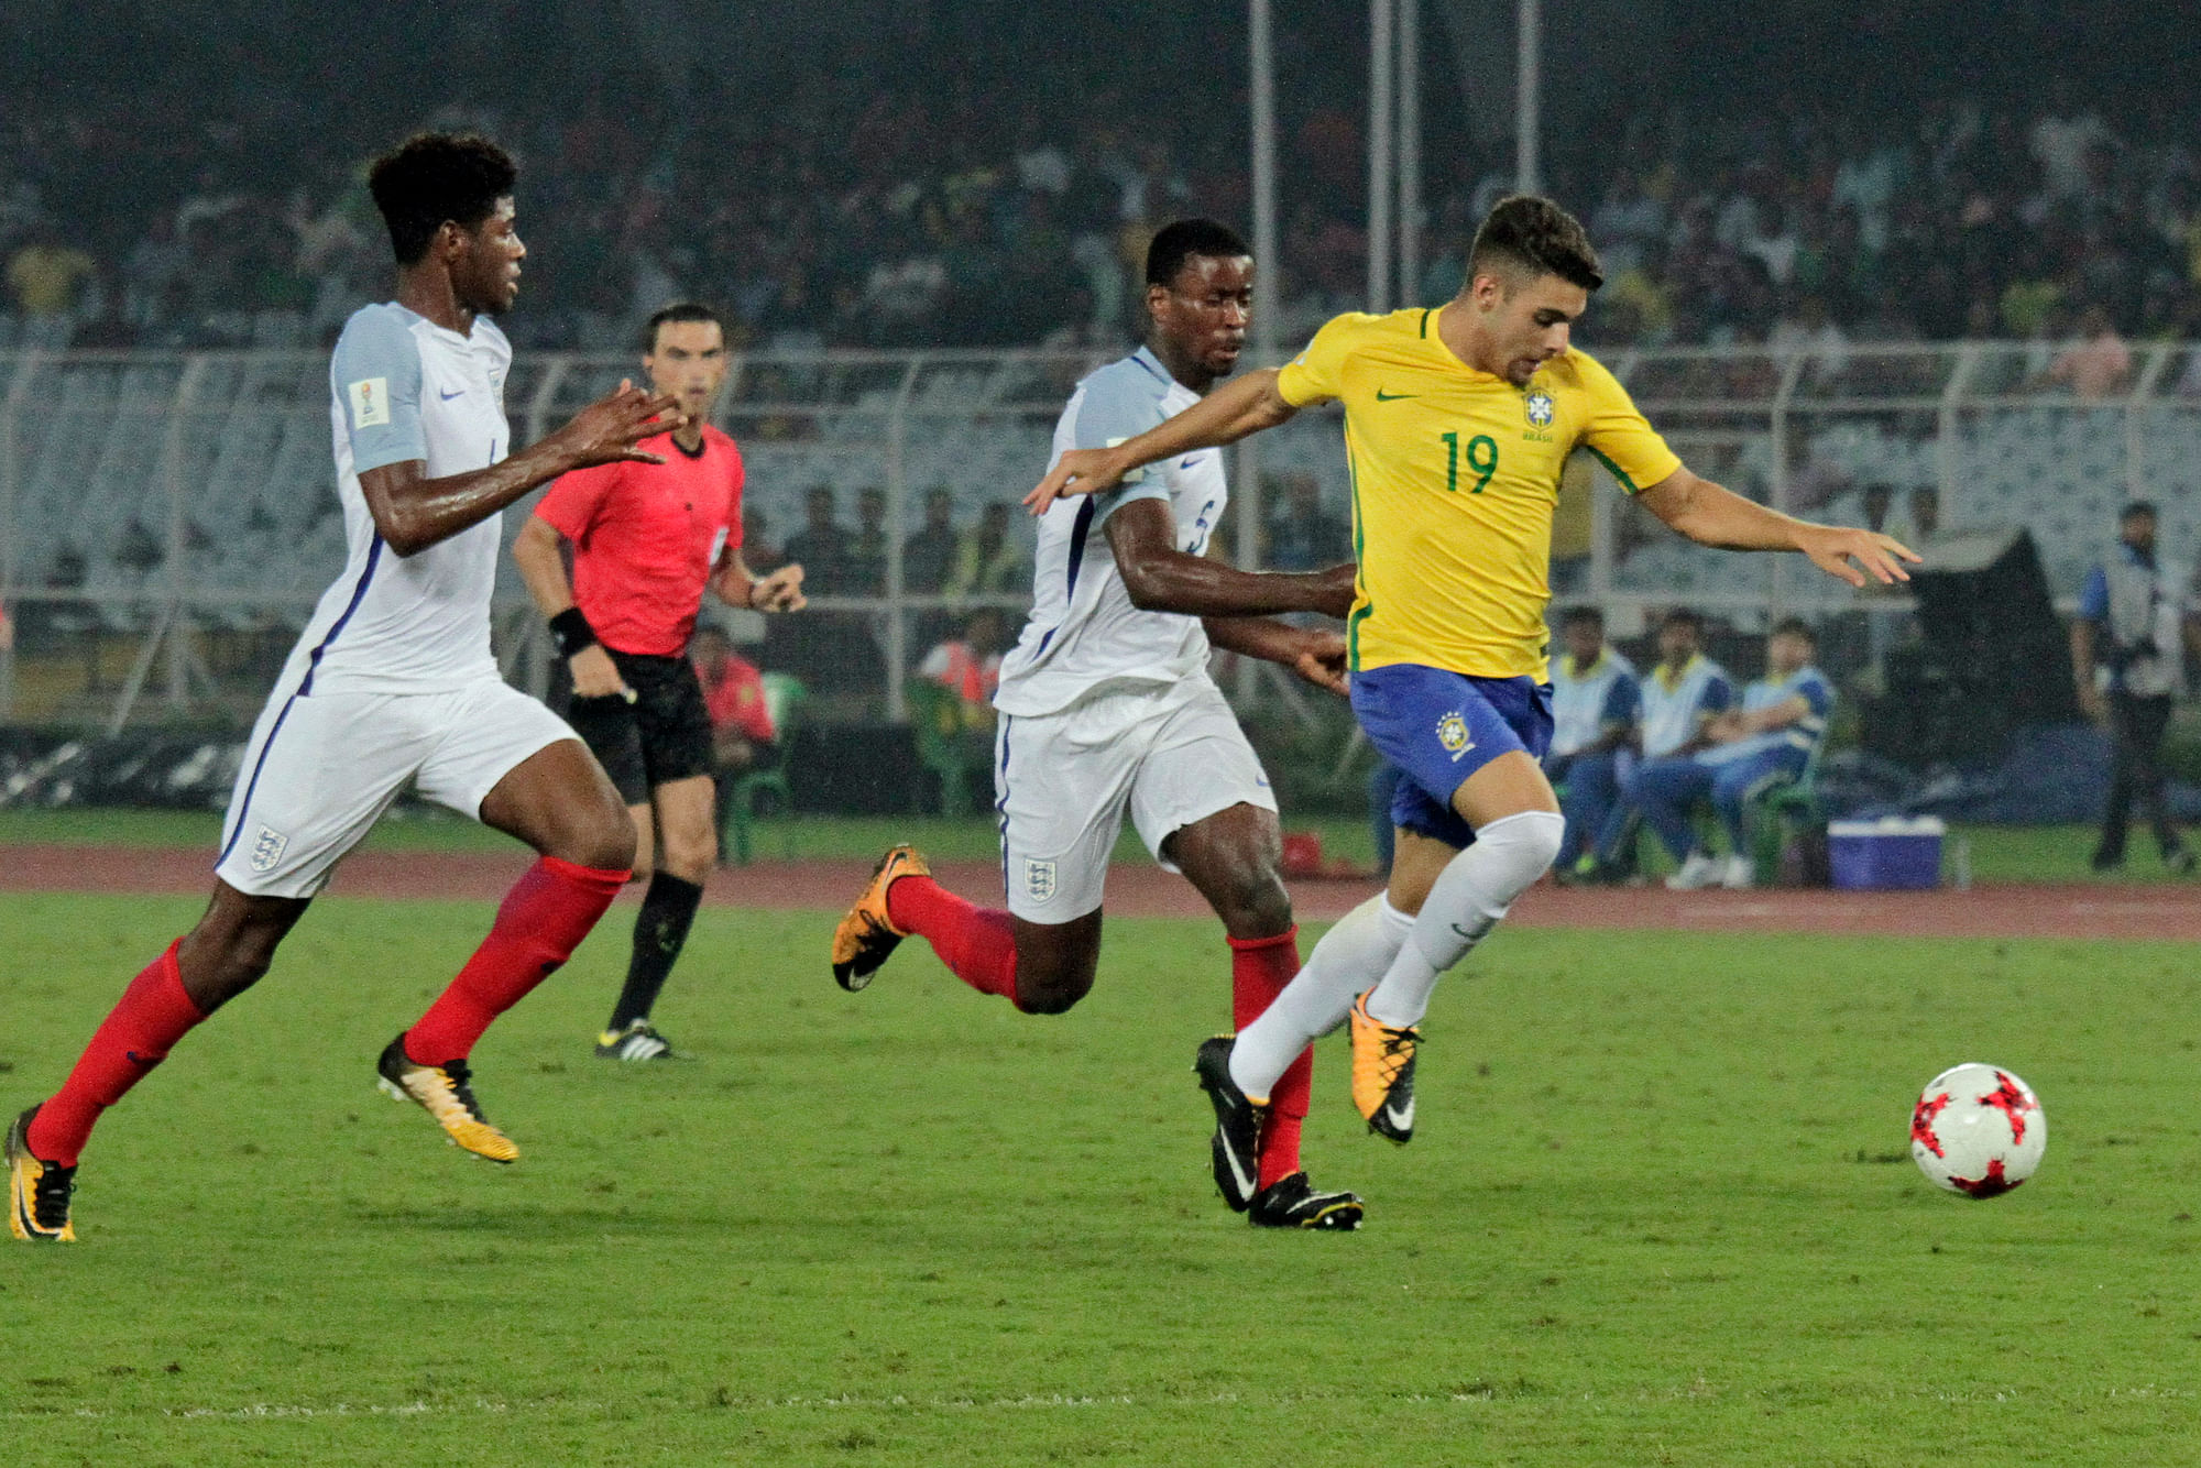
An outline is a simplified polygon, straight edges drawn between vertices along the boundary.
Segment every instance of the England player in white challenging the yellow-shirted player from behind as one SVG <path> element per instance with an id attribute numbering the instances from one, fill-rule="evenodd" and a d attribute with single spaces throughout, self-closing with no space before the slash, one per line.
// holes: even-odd
<path id="1" fill-rule="evenodd" d="M 1078 383 L 1054 456 L 1134 438 L 1184 412 L 1237 365 L 1252 258 L 1230 229 L 1180 220 L 1147 251 L 1147 346 Z M 1263 574 L 1206 557 L 1224 513 L 1208 449 L 1039 522 L 1032 616 L 1001 662 L 995 808 L 1008 909 L 979 909 L 898 845 L 834 933 L 834 977 L 863 988 L 916 933 L 979 993 L 1059 1015 L 1094 982 L 1100 898 L 1125 814 L 1153 858 L 1182 872 L 1224 920 L 1237 1023 L 1299 971 L 1279 878 L 1277 799 L 1208 678 L 1213 647 L 1268 658 L 1343 691 L 1345 640 L 1272 621 L 1343 616 L 1351 563 Z M 1259 1171 L 1215 1153 L 1224 1199 L 1274 1228 L 1354 1228 L 1360 1199 L 1321 1193 L 1299 1166 L 1310 1059 L 1279 1085 Z M 1292 1087 L 1288 1092 L 1288 1087 Z"/>

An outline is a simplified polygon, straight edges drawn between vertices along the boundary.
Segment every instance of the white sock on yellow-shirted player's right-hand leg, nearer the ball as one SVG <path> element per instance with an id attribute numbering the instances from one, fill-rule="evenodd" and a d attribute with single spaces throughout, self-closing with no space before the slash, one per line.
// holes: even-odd
<path id="1" fill-rule="evenodd" d="M 1567 821 L 1523 810 L 1475 832 L 1475 845 L 1446 863 L 1422 902 L 1413 935 L 1369 995 L 1369 1019 L 1404 1030 L 1422 1023 L 1437 975 L 1483 940 L 1512 900 L 1558 858 Z"/>

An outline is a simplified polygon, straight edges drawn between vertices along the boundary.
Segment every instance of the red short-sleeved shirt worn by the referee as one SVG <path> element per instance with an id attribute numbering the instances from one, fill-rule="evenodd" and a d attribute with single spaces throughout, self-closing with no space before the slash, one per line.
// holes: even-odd
<path id="1" fill-rule="evenodd" d="M 671 434 L 643 445 L 665 462 L 574 469 L 535 513 L 572 541 L 572 599 L 596 638 L 674 656 L 720 552 L 742 546 L 742 451 L 713 427 L 696 453 Z"/>

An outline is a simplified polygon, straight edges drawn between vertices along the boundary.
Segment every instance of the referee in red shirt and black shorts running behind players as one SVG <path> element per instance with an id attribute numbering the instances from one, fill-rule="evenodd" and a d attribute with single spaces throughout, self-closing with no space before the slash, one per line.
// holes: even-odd
<path id="1" fill-rule="evenodd" d="M 702 592 L 757 612 L 797 612 L 803 568 L 768 577 L 742 561 L 742 451 L 709 427 L 726 381 L 726 339 L 709 306 L 649 317 L 643 372 L 676 398 L 678 429 L 645 438 L 656 462 L 559 478 L 513 541 L 513 561 L 572 669 L 574 731 L 634 814 L 636 880 L 649 880 L 634 957 L 596 1054 L 658 1061 L 671 1045 L 649 1023 L 702 883 L 718 856 L 711 825 L 711 715 L 687 660 Z M 572 544 L 572 581 L 559 541 Z M 663 841 L 665 858 L 651 863 Z"/>

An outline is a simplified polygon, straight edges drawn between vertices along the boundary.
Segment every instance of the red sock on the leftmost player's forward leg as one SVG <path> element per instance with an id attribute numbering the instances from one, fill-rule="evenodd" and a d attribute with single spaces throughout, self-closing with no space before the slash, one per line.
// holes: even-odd
<path id="1" fill-rule="evenodd" d="M 464 1059 L 491 1019 L 519 1004 L 572 957 L 625 883 L 627 872 L 541 856 L 504 896 L 489 938 L 451 979 L 451 988 L 405 1032 L 407 1059 L 416 1065 Z"/>

